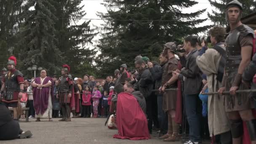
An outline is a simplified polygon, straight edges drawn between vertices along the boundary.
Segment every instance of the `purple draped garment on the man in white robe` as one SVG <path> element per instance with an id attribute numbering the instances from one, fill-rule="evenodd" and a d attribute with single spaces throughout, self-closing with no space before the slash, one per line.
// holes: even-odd
<path id="1" fill-rule="evenodd" d="M 49 91 L 51 88 L 51 99 L 53 99 L 53 81 L 51 77 L 45 77 L 45 80 L 43 81 L 43 85 L 47 84 L 51 81 L 51 87 L 48 88 L 42 88 L 41 90 L 38 89 L 37 87 L 33 88 L 33 103 L 34 103 L 34 109 L 36 115 L 43 115 L 45 111 L 48 108 L 48 98 L 49 98 Z M 35 78 L 35 83 L 40 85 L 41 80 L 40 77 Z"/>

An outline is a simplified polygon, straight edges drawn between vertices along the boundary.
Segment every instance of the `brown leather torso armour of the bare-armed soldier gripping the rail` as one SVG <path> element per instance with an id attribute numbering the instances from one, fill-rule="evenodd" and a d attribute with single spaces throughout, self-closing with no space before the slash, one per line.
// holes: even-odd
<path id="1" fill-rule="evenodd" d="M 178 67 L 178 63 L 179 63 L 179 60 L 176 58 L 173 58 L 173 59 L 169 59 L 167 63 L 163 65 L 162 85 L 167 83 L 173 76 L 172 73 L 168 73 L 169 64 L 175 64 Z M 177 88 L 177 82 L 169 85 L 168 88 Z"/>

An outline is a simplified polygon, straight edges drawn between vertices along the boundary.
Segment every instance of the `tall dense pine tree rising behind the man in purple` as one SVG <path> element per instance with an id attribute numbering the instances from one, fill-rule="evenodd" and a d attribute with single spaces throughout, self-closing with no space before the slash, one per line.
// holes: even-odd
<path id="1" fill-rule="evenodd" d="M 56 9 L 53 0 L 27 0 L 22 16 L 24 24 L 19 34 L 20 41 L 17 48 L 20 49 L 20 59 L 24 61 L 26 74 L 27 67 L 37 65 L 48 71 L 48 75 L 60 72 L 63 56 L 56 47 L 54 21 Z M 34 9 L 33 9 L 34 6 Z"/>

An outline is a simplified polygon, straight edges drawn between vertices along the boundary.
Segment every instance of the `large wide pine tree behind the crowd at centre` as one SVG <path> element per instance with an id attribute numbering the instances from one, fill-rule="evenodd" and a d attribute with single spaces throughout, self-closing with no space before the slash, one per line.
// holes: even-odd
<path id="1" fill-rule="evenodd" d="M 141 54 L 149 58 L 163 51 L 163 44 L 181 40 L 186 35 L 204 32 L 209 28 L 196 27 L 206 19 L 199 19 L 205 9 L 182 13 L 197 2 L 192 0 L 105 0 L 108 13 L 98 13 L 102 25 L 102 39 L 96 60 L 97 69 L 113 73 L 120 64 L 134 66 L 134 58 Z"/>

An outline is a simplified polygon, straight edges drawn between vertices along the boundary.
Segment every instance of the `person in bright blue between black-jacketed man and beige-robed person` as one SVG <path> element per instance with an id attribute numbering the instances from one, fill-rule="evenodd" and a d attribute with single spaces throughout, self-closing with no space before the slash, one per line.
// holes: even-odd
<path id="1" fill-rule="evenodd" d="M 209 133 L 209 128 L 208 128 L 208 95 L 204 95 L 202 93 L 208 93 L 208 87 L 207 87 L 207 76 L 205 74 L 202 75 L 202 82 L 203 85 L 205 85 L 203 87 L 203 90 L 201 91 L 201 93 L 199 94 L 199 98 L 202 101 L 202 105 L 203 105 L 203 110 L 202 110 L 202 115 L 203 115 L 203 123 L 202 123 L 202 130 L 204 130 L 202 132 L 203 136 L 202 138 L 205 140 L 209 140 L 210 139 L 210 133 Z"/>

